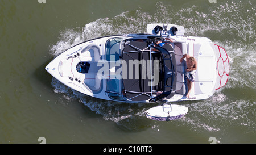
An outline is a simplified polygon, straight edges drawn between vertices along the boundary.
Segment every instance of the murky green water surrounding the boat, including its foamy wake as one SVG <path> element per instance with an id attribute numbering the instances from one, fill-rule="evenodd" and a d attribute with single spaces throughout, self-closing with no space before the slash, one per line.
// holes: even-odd
<path id="1" fill-rule="evenodd" d="M 0 143 L 255 143 L 255 9 L 236 0 L 1 0 Z M 72 45 L 143 33 L 149 23 L 179 24 L 228 53 L 227 85 L 207 100 L 176 103 L 189 108 L 184 118 L 147 119 L 150 104 L 86 97 L 44 70 Z"/>

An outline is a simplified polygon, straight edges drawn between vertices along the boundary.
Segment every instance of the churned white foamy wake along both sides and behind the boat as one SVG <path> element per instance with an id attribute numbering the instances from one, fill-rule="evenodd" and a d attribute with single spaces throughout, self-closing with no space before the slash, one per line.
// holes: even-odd
<path id="1" fill-rule="evenodd" d="M 253 5 L 251 2 L 241 1 L 218 2 L 205 12 L 197 11 L 199 7 L 203 7 L 200 5 L 183 7 L 175 10 L 172 5 L 158 2 L 158 11 L 153 15 L 143 9 L 126 11 L 112 19 L 97 19 L 86 24 L 80 31 L 64 30 L 60 33 L 60 40 L 51 45 L 51 55 L 56 57 L 73 45 L 96 37 L 118 33 L 146 33 L 147 24 L 150 23 L 184 26 L 185 35 L 209 37 L 225 48 L 230 60 L 230 76 L 227 85 L 207 100 L 174 103 L 185 104 L 189 108 L 188 114 L 175 122 L 197 132 L 219 132 L 224 127 L 237 126 L 247 127 L 246 132 L 255 131 L 256 85 L 253 77 L 256 73 L 256 11 Z M 241 11 L 244 13 L 240 14 Z M 159 130 L 158 122 L 145 118 L 143 114 L 148 108 L 157 106 L 157 103 L 132 104 L 94 99 L 69 89 L 55 78 L 52 78 L 52 86 L 55 93 L 79 99 L 90 110 L 122 127 L 132 130 L 152 127 L 155 131 Z"/>

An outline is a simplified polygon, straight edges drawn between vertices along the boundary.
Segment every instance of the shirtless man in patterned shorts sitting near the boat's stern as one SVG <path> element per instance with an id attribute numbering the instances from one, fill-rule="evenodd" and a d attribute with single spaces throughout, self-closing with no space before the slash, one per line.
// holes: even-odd
<path id="1" fill-rule="evenodd" d="M 188 81 L 188 93 L 187 93 L 186 97 L 189 98 L 190 91 L 193 86 L 193 82 L 195 81 L 197 61 L 194 57 L 185 54 L 180 59 L 180 62 L 183 61 L 183 58 L 186 58 L 186 62 L 187 62 L 186 77 L 187 77 L 187 81 Z"/>

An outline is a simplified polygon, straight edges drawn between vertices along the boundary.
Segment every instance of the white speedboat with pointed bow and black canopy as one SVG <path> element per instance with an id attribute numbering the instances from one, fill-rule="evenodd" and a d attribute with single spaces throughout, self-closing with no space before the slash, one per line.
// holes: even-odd
<path id="1" fill-rule="evenodd" d="M 143 34 L 87 40 L 54 58 L 46 70 L 71 89 L 99 99 L 133 103 L 207 99 L 228 81 L 228 55 L 207 37 L 184 33 L 183 26 L 160 23 L 148 24 Z M 189 97 L 186 60 L 180 61 L 185 54 L 198 62 Z M 171 111 L 171 104 L 163 106 Z"/>

